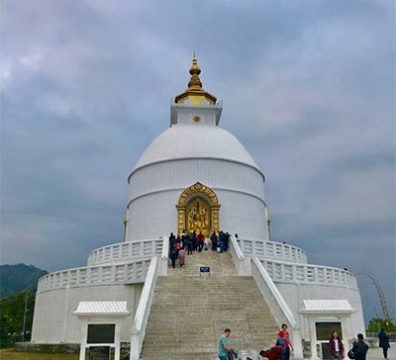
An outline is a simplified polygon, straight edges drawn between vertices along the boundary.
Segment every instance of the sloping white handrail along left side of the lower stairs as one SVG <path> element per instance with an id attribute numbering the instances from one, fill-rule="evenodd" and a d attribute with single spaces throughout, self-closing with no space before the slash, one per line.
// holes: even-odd
<path id="1" fill-rule="evenodd" d="M 130 360 L 138 360 L 140 357 L 151 305 L 153 303 L 158 268 L 158 257 L 155 256 L 150 261 L 135 318 L 132 323 Z"/>

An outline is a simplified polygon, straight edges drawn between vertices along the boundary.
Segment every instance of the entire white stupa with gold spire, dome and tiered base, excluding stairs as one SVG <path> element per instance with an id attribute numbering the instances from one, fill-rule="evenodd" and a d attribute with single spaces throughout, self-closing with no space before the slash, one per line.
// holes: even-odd
<path id="1" fill-rule="evenodd" d="M 339 329 L 345 341 L 364 332 L 351 272 L 310 265 L 304 250 L 271 241 L 264 174 L 220 127 L 222 106 L 203 89 L 200 72 L 194 58 L 170 127 L 128 177 L 124 241 L 92 251 L 86 267 L 40 279 L 32 343 L 88 347 L 90 323 L 114 324 L 116 340 L 130 342 L 137 358 L 158 276 L 170 276 L 166 236 L 184 230 L 238 234 L 229 251 L 236 274 L 253 276 L 275 322 L 289 325 L 296 358 L 321 356 L 324 329 Z"/>

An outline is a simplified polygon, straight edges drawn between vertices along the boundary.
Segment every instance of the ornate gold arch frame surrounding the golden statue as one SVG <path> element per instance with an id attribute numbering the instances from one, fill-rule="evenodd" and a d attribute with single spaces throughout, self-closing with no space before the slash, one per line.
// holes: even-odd
<path id="1" fill-rule="evenodd" d="M 181 234 L 183 230 L 186 228 L 186 208 L 188 203 L 196 198 L 201 197 L 207 199 L 209 201 L 210 206 L 210 214 L 211 214 L 211 229 L 210 233 L 216 231 L 219 233 L 220 230 L 220 221 L 219 221 L 219 211 L 220 204 L 219 199 L 217 198 L 216 193 L 209 186 L 201 184 L 199 181 L 194 185 L 184 189 L 184 191 L 179 196 L 179 201 L 176 205 L 177 209 L 177 230 L 178 233 Z"/>

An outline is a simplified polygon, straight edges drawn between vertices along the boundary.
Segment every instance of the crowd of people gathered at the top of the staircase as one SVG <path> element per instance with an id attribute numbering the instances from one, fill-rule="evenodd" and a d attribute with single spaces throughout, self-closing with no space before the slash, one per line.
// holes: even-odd
<path id="1" fill-rule="evenodd" d="M 176 260 L 180 267 L 185 265 L 186 251 L 187 255 L 191 255 L 194 251 L 201 252 L 209 249 L 224 252 L 228 250 L 229 241 L 230 234 L 223 231 L 220 231 L 219 235 L 213 232 L 209 239 L 205 238 L 202 231 L 197 234 L 196 231 L 187 233 L 183 230 L 183 233 L 177 236 L 171 232 L 169 235 L 169 258 L 172 267 L 176 267 Z"/>

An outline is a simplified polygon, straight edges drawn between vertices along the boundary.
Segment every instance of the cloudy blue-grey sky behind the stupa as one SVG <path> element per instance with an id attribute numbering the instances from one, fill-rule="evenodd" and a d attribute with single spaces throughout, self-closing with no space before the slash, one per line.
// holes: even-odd
<path id="1" fill-rule="evenodd" d="M 395 317 L 395 3 L 3 0 L 2 263 L 122 240 L 127 175 L 195 50 L 262 166 L 274 240 L 369 271 Z M 366 318 L 381 315 L 358 276 Z"/>

